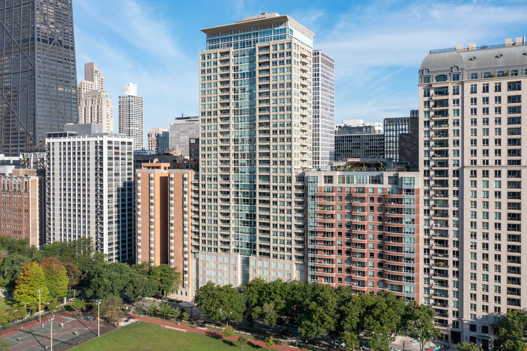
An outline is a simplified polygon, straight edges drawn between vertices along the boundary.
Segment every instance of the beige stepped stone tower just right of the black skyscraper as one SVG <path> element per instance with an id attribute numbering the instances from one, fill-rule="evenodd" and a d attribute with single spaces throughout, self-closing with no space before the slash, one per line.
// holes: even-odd
<path id="1" fill-rule="evenodd" d="M 104 91 L 104 77 L 95 63 L 84 64 L 84 80 L 79 94 L 79 123 L 98 123 L 103 133 L 113 133 L 113 104 Z"/>

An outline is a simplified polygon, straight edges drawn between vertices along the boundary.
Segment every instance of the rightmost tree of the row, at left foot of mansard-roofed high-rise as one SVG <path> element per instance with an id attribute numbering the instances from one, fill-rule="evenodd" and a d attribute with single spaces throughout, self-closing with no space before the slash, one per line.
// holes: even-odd
<path id="1" fill-rule="evenodd" d="M 406 305 L 403 318 L 410 337 L 419 343 L 421 351 L 427 342 L 441 336 L 441 330 L 434 327 L 434 309 L 428 305 L 412 301 Z"/>

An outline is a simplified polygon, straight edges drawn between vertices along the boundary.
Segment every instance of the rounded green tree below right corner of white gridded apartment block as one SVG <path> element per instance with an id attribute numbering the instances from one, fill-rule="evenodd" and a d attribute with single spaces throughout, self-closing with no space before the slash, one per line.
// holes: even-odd
<path id="1" fill-rule="evenodd" d="M 90 281 L 90 289 L 97 297 L 119 296 L 130 282 L 130 267 L 112 262 L 96 267 Z"/>

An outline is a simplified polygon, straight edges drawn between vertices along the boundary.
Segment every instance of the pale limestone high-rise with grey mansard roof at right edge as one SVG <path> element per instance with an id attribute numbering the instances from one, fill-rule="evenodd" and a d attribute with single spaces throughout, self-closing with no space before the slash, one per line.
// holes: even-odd
<path id="1" fill-rule="evenodd" d="M 485 350 L 490 324 L 527 307 L 525 44 L 431 51 L 418 77 L 423 302 L 445 340 Z"/>

